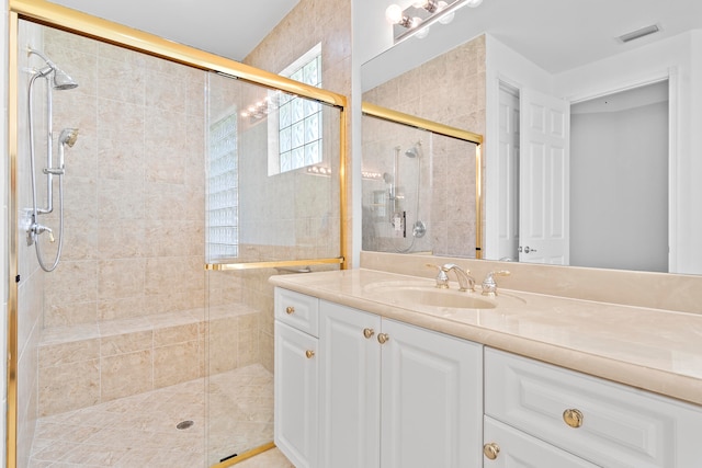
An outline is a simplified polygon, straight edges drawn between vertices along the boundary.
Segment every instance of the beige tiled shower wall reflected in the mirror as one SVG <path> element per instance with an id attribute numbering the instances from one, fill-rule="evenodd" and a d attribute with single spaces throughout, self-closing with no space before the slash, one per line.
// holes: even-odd
<path id="1" fill-rule="evenodd" d="M 448 85 L 448 83 L 452 83 Z M 463 92 L 451 96 L 449 90 Z M 419 116 L 452 127 L 485 134 L 485 36 L 465 43 L 363 94 L 363 101 Z M 439 103 L 450 102 L 450 106 Z M 396 125 L 367 122 L 363 127 L 363 169 L 377 171 L 387 167 L 393 147 L 405 144 L 406 130 Z M 372 126 L 366 126 L 369 123 Z M 370 128 L 369 128 L 370 127 Z M 385 129 L 385 132 L 378 130 Z M 396 139 L 393 137 L 397 136 Z M 403 148 L 403 151 L 405 148 Z M 440 255 L 475 255 L 475 146 L 445 137 L 434 137 L 431 168 L 431 250 Z M 364 205 L 372 199 L 369 191 L 378 183 L 364 183 Z M 382 189 L 382 186 L 380 187 Z M 365 208 L 364 208 L 365 210 Z M 366 239 L 364 248 L 387 250 L 378 239 Z"/>

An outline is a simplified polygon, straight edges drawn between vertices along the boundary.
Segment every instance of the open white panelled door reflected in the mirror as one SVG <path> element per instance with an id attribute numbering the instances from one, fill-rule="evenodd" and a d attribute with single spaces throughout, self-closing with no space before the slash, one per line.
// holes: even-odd
<path id="1" fill-rule="evenodd" d="M 521 90 L 520 262 L 569 262 L 569 115 L 567 101 Z"/>

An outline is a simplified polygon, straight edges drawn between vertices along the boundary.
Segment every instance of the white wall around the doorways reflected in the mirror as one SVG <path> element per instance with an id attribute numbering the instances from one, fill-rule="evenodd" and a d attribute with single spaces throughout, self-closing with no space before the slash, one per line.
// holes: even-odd
<path id="1" fill-rule="evenodd" d="M 672 110 L 670 148 L 671 272 L 702 272 L 702 31 L 692 31 L 619 56 L 550 76 L 488 35 L 486 161 L 489 168 L 491 135 L 497 135 L 498 79 L 517 88 L 533 88 L 568 101 L 621 91 L 670 78 Z M 697 84 L 697 87 L 693 85 Z M 489 169 L 486 171 L 486 217 L 496 209 Z M 489 229 L 489 225 L 488 225 Z M 486 251 L 491 232 L 486 232 Z"/>

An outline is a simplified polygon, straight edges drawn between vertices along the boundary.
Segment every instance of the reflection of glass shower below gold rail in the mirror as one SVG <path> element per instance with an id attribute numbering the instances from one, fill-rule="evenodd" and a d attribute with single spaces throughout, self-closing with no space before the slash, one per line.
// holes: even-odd
<path id="1" fill-rule="evenodd" d="M 479 258 L 475 141 L 366 111 L 363 155 L 363 250 Z"/>

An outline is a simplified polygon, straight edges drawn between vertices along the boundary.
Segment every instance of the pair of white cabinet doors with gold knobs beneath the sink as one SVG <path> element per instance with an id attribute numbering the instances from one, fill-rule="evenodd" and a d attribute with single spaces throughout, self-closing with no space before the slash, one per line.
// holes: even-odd
<path id="1" fill-rule="evenodd" d="M 319 466 L 479 466 L 480 345 L 324 300 L 319 323 Z"/>

